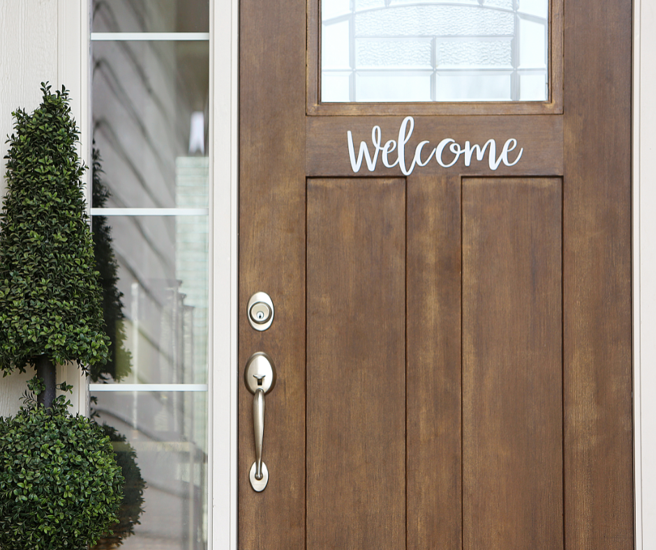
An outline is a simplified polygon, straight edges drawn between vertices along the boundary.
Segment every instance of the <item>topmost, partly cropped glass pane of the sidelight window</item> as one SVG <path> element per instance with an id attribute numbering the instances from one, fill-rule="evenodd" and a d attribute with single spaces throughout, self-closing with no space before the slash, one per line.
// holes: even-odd
<path id="1" fill-rule="evenodd" d="M 209 0 L 93 0 L 93 32 L 208 32 Z"/>

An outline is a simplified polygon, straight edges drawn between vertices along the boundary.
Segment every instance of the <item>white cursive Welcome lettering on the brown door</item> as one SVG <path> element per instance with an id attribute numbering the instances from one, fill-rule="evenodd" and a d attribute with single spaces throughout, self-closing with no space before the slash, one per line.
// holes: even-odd
<path id="1" fill-rule="evenodd" d="M 430 144 L 428 140 L 419 142 L 417 147 L 415 147 L 415 156 L 412 157 L 412 162 L 407 166 L 405 163 L 405 144 L 410 141 L 410 136 L 414 129 L 415 119 L 412 117 L 405 117 L 403 122 L 401 122 L 401 127 L 398 128 L 398 140 L 389 140 L 385 142 L 384 145 L 381 145 L 382 135 L 380 132 L 380 126 L 374 126 L 371 128 L 371 145 L 373 147 L 373 154 L 369 152 L 368 144 L 363 141 L 360 142 L 357 156 L 355 156 L 355 147 L 353 146 L 353 135 L 350 130 L 347 131 L 348 156 L 351 161 L 353 172 L 356 174 L 359 172 L 363 158 L 369 172 L 373 172 L 376 168 L 376 163 L 378 163 L 378 154 L 380 154 L 384 166 L 387 168 L 394 168 L 394 166 L 398 165 L 398 167 L 401 168 L 401 172 L 408 176 L 412 174 L 412 170 L 415 170 L 415 166 L 426 166 L 431 162 L 433 157 L 435 157 L 435 161 L 437 161 L 440 166 L 449 168 L 458 162 L 461 156 L 465 161 L 465 166 L 471 164 L 472 157 L 474 156 L 476 157 L 476 160 L 480 162 L 485 158 L 486 152 L 488 154 L 490 170 L 496 170 L 501 163 L 506 166 L 516 165 L 524 151 L 523 147 L 521 147 L 515 160 L 510 162 L 508 154 L 511 151 L 514 151 L 517 147 L 517 140 L 514 137 L 511 137 L 503 144 L 498 157 L 496 156 L 497 146 L 495 140 L 487 140 L 482 147 L 478 144 L 472 145 L 468 141 L 465 141 L 464 146 L 461 146 L 459 143 L 456 143 L 456 140 L 446 137 L 438 143 L 437 147 L 433 147 L 433 149 L 428 149 L 426 147 Z M 394 151 L 396 151 L 396 159 L 392 162 L 390 161 L 390 155 L 394 153 Z M 446 161 L 445 156 L 447 157 Z M 394 158 L 394 156 L 392 156 L 392 158 Z"/>

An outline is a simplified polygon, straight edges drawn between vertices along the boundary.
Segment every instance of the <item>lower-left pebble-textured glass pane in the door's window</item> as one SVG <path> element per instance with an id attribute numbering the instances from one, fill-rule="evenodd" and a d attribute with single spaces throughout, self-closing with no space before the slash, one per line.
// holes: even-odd
<path id="1" fill-rule="evenodd" d="M 430 40 L 359 38 L 355 41 L 357 68 L 432 68 Z"/>

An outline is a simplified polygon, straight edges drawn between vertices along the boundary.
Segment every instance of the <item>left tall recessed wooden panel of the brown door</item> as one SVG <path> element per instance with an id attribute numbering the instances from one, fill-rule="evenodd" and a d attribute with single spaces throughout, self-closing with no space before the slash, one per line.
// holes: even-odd
<path id="1" fill-rule="evenodd" d="M 405 546 L 405 181 L 308 180 L 307 548 Z"/>

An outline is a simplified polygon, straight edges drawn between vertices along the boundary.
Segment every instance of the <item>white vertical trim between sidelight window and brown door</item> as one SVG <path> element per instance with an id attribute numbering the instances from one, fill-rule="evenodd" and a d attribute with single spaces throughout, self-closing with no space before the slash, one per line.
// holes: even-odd
<path id="1" fill-rule="evenodd" d="M 210 319 L 211 406 L 209 456 L 211 520 L 215 550 L 237 550 L 237 231 L 239 0 L 210 2 Z"/>

